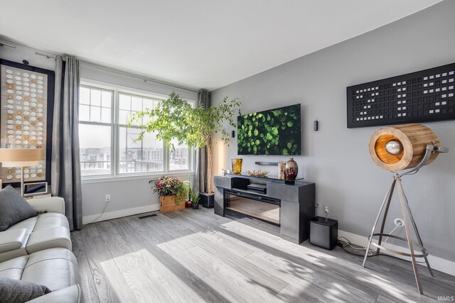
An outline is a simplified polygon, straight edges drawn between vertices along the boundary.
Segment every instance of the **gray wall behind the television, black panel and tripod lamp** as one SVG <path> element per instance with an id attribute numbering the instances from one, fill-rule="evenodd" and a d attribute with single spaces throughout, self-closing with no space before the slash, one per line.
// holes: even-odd
<path id="1" fill-rule="evenodd" d="M 330 48 L 235 82 L 212 92 L 212 100 L 239 97 L 242 112 L 300 103 L 303 155 L 295 157 L 299 176 L 316 182 L 316 200 L 329 204 L 331 218 L 343 231 L 368 236 L 385 192 L 392 181 L 370 159 L 368 141 L 378 128 L 346 128 L 346 87 L 417 72 L 455 62 L 455 1 L 444 1 L 400 21 Z M 320 129 L 313 131 L 313 121 Z M 455 261 L 455 121 L 426 123 L 451 153 L 403 185 L 422 239 L 430 254 Z M 218 148 L 218 172 L 237 158 L 236 139 Z M 223 157 L 224 155 L 224 157 Z M 257 160 L 287 160 L 276 156 L 243 156 L 244 171 L 274 170 Z M 397 202 L 397 201 L 395 201 Z M 397 204 L 395 204 L 397 205 Z M 323 214 L 323 208 L 318 214 Z M 401 217 L 398 208 L 390 218 Z M 386 231 L 392 229 L 387 226 Z M 396 232 L 396 231 L 395 231 Z"/>

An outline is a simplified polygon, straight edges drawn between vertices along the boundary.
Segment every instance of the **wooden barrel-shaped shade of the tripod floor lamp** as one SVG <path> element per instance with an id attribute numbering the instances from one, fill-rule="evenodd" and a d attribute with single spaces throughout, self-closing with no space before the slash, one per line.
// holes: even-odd
<path id="1" fill-rule="evenodd" d="M 369 150 L 376 165 L 384 170 L 397 172 L 416 167 L 424 158 L 427 145 L 432 144 L 441 145 L 430 128 L 410 123 L 375 131 L 370 138 Z M 394 152 L 390 150 L 390 146 L 394 147 Z M 433 162 L 438 154 L 433 153 L 426 164 Z"/>

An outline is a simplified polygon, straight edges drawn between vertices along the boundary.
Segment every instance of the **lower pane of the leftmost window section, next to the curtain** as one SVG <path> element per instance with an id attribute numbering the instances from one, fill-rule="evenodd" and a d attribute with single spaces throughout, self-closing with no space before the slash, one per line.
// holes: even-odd
<path id="1" fill-rule="evenodd" d="M 79 124 L 82 176 L 109 175 L 111 170 L 111 126 Z"/>

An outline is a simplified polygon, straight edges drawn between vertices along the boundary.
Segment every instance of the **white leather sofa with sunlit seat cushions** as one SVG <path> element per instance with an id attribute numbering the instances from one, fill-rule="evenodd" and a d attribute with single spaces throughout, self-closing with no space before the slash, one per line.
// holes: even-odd
<path id="1" fill-rule="evenodd" d="M 0 232 L 0 277 L 45 285 L 52 291 L 33 303 L 84 302 L 64 200 L 46 197 L 27 202 L 40 214 Z"/>

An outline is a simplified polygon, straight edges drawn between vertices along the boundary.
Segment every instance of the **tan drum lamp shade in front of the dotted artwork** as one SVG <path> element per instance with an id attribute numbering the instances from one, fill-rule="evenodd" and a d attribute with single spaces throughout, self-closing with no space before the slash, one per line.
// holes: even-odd
<path id="1" fill-rule="evenodd" d="M 44 160 L 43 148 L 0 148 L 3 167 L 24 167 L 40 164 Z"/>

